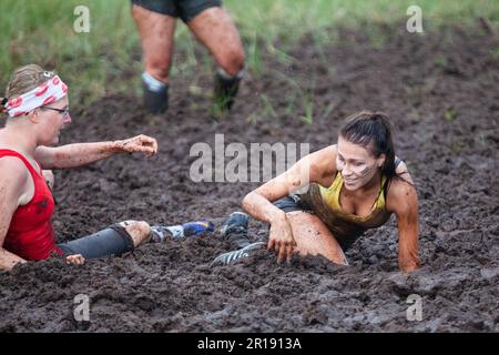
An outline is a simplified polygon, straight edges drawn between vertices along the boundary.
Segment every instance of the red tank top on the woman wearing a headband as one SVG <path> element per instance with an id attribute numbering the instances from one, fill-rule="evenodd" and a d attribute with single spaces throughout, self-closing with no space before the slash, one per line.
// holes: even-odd
<path id="1" fill-rule="evenodd" d="M 55 204 L 42 170 L 39 169 L 37 172 L 18 152 L 0 149 L 0 158 L 3 156 L 17 156 L 22 160 L 33 178 L 34 194 L 28 204 L 16 210 L 2 247 L 29 261 L 48 258 L 51 252 L 61 255 L 62 251 L 55 246 L 51 221 Z"/>

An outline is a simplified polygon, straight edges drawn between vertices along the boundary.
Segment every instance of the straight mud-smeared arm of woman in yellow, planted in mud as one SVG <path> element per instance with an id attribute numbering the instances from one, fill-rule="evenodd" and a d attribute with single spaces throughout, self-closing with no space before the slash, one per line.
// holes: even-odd
<path id="1" fill-rule="evenodd" d="M 414 185 L 394 180 L 387 197 L 387 210 L 398 223 L 398 265 L 401 271 L 419 268 L 418 197 Z"/>

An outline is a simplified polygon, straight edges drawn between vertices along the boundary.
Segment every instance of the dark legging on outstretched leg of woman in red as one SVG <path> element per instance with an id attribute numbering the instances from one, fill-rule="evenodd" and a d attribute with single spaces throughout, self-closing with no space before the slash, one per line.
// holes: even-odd
<path id="1" fill-rule="evenodd" d="M 118 224 L 71 242 L 58 244 L 58 247 L 64 256 L 81 254 L 84 258 L 120 256 L 134 250 L 132 237 Z"/>

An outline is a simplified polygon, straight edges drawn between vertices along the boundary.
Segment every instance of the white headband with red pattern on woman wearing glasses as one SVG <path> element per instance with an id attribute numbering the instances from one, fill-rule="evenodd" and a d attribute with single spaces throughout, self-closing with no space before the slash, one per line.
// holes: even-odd
<path id="1" fill-rule="evenodd" d="M 6 103 L 6 111 L 11 118 L 28 114 L 30 111 L 59 101 L 68 94 L 68 85 L 58 75 L 45 81 L 38 88 L 10 99 Z"/>

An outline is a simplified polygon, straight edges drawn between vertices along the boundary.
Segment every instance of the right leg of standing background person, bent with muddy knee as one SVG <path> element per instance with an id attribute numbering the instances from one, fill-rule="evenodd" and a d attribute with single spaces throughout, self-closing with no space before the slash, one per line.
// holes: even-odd
<path id="1" fill-rule="evenodd" d="M 220 7 L 202 11 L 187 26 L 218 64 L 214 102 L 221 111 L 226 111 L 234 103 L 243 77 L 245 55 L 240 34 L 228 13 Z"/>

